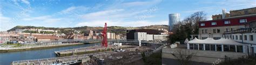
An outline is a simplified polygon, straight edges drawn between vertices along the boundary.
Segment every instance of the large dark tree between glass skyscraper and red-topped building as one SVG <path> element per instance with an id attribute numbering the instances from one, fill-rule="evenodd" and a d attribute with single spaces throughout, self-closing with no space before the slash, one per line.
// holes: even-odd
<path id="1" fill-rule="evenodd" d="M 199 33 L 199 21 L 206 20 L 206 13 L 203 11 L 195 12 L 186 17 L 183 21 L 179 21 L 173 25 L 173 34 L 169 35 L 169 42 L 173 44 L 175 41 L 183 41 L 190 38 L 191 34 Z"/>

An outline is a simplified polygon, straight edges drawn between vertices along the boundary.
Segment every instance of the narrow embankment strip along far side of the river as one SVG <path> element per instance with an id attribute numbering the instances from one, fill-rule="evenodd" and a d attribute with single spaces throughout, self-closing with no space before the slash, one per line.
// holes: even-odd
<path id="1" fill-rule="evenodd" d="M 19 52 L 19 51 L 36 50 L 36 49 L 48 49 L 48 48 L 56 48 L 56 47 L 83 45 L 83 44 L 84 43 L 73 43 L 73 44 L 60 44 L 60 45 L 48 45 L 48 46 L 36 46 L 36 47 L 8 48 L 8 49 L 0 49 L 0 53 Z"/>

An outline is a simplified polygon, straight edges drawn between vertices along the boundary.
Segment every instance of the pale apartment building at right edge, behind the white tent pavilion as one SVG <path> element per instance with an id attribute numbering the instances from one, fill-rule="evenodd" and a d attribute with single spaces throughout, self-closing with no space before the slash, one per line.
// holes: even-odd
<path id="1" fill-rule="evenodd" d="M 245 28 L 239 28 L 234 31 L 224 33 L 224 38 L 246 44 L 248 52 L 256 55 L 256 20 L 245 23 Z"/>

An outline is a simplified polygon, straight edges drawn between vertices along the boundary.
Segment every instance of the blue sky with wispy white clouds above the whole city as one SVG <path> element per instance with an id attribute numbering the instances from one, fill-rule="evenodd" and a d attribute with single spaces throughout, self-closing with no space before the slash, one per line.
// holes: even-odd
<path id="1" fill-rule="evenodd" d="M 197 11 L 207 19 L 222 9 L 256 7 L 256 0 L 0 0 L 0 31 L 19 26 L 79 27 L 168 25 Z"/>

